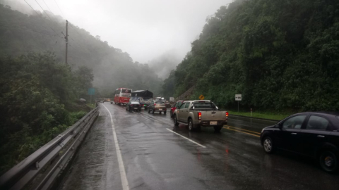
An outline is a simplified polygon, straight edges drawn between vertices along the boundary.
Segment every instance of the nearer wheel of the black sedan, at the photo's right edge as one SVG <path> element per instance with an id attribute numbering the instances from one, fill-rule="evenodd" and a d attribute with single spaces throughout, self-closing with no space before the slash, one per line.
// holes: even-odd
<path id="1" fill-rule="evenodd" d="M 333 173 L 338 170 L 339 155 L 335 151 L 323 151 L 319 157 L 321 168 L 326 172 Z"/>

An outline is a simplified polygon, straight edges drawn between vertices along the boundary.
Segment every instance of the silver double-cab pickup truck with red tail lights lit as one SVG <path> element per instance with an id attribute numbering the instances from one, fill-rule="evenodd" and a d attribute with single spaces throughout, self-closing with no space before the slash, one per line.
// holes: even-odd
<path id="1" fill-rule="evenodd" d="M 228 112 L 219 110 L 208 100 L 184 101 L 174 110 L 173 116 L 174 125 L 189 125 L 190 131 L 200 127 L 214 127 L 215 132 L 220 132 L 228 120 Z"/>

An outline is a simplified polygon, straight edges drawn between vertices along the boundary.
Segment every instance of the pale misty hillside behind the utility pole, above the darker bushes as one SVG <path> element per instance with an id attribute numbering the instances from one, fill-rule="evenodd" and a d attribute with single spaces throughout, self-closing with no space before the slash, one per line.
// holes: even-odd
<path id="1" fill-rule="evenodd" d="M 52 51 L 57 61 L 64 63 L 66 20 L 47 13 L 50 18 L 39 11 L 26 15 L 0 4 L 0 54 L 20 56 L 28 51 Z M 112 96 L 118 87 L 160 93 L 162 81 L 148 65 L 133 62 L 128 53 L 73 23 L 69 23 L 68 63 L 73 70 L 81 66 L 92 69 L 93 84 L 102 96 Z"/>

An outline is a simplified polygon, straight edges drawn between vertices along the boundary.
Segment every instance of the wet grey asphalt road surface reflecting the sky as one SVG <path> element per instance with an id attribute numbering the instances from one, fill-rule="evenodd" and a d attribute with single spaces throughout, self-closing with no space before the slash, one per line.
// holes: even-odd
<path id="1" fill-rule="evenodd" d="M 60 189 L 338 189 L 339 176 L 309 158 L 263 152 L 261 129 L 274 124 L 230 116 L 220 133 L 189 132 L 168 113 L 100 103 Z"/>

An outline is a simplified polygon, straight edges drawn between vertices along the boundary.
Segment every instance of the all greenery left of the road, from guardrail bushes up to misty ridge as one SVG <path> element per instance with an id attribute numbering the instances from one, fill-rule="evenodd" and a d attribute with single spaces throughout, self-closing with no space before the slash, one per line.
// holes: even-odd
<path id="1" fill-rule="evenodd" d="M 89 101 L 88 88 L 105 97 L 117 87 L 157 95 L 162 82 L 148 65 L 72 23 L 66 65 L 65 20 L 25 13 L 32 14 L 0 4 L 0 174 L 83 117 L 90 108 L 76 102 Z"/>

